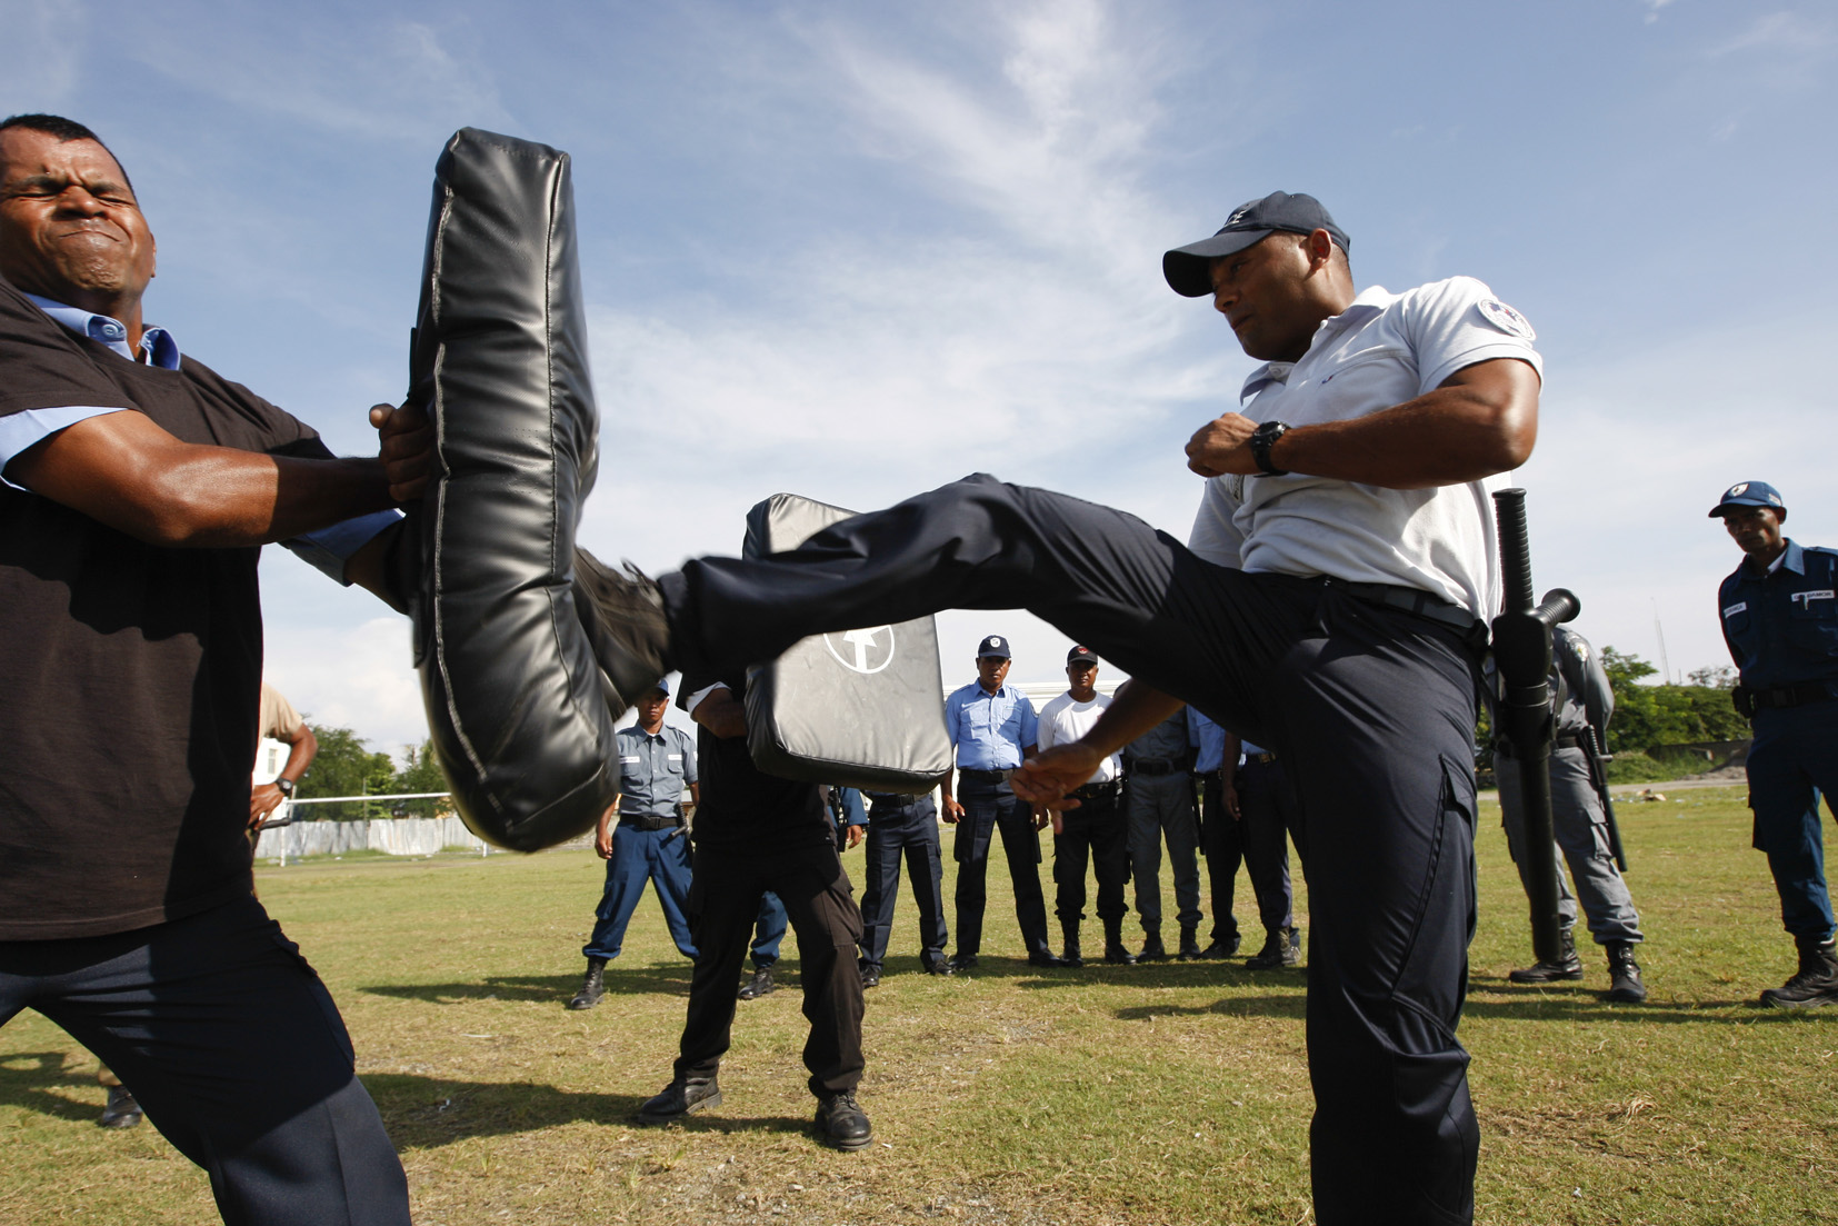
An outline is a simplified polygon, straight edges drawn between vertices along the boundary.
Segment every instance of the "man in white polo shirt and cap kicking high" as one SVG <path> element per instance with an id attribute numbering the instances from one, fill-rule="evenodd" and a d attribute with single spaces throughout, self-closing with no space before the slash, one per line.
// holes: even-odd
<path id="1" fill-rule="evenodd" d="M 1182 700 L 1277 752 L 1309 823 L 1314 1209 L 1469 1222 L 1478 1129 L 1456 1042 L 1474 923 L 1474 697 L 1500 603 L 1489 489 L 1531 454 L 1540 360 L 1480 281 L 1355 292 L 1347 235 L 1272 193 L 1163 276 L 1266 362 L 1187 443 L 1193 546 L 970 476 L 770 559 L 596 594 L 608 673 L 743 669 L 800 638 L 1029 608 L 1125 669 L 1079 741 L 1013 774 L 1064 807 Z"/>

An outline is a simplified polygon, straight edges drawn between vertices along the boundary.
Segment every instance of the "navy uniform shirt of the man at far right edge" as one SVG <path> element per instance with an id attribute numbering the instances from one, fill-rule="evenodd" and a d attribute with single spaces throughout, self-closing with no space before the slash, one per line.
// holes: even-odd
<path id="1" fill-rule="evenodd" d="M 1750 689 L 1838 682 L 1838 551 L 1788 540 L 1772 572 L 1744 557 L 1717 605 Z"/>

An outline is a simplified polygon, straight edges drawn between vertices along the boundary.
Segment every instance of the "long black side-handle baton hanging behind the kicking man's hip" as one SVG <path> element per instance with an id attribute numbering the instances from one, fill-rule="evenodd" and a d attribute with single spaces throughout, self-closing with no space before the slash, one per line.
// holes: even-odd
<path id="1" fill-rule="evenodd" d="M 1557 858 L 1551 855 L 1551 627 L 1577 616 L 1581 605 L 1564 588 L 1531 603 L 1531 546 L 1526 537 L 1526 491 L 1494 496 L 1500 528 L 1500 570 L 1505 607 L 1492 623 L 1494 667 L 1500 673 L 1500 732 L 1518 759 L 1526 814 L 1526 893 L 1531 901 L 1531 948 L 1538 961 L 1562 961 L 1557 915 Z"/>

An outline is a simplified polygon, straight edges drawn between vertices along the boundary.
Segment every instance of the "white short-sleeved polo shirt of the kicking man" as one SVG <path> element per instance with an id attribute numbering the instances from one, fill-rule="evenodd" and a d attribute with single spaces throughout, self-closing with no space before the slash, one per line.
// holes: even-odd
<path id="1" fill-rule="evenodd" d="M 1309 426 L 1364 417 L 1434 392 L 1465 366 L 1520 358 L 1542 377 L 1526 316 L 1474 278 L 1373 287 L 1323 320 L 1299 362 L 1268 362 L 1244 382 L 1244 415 Z M 1215 476 L 1189 548 L 1209 562 L 1279 575 L 1391 583 L 1476 618 L 1500 608 L 1491 476 L 1435 489 L 1380 489 L 1323 476 Z"/>

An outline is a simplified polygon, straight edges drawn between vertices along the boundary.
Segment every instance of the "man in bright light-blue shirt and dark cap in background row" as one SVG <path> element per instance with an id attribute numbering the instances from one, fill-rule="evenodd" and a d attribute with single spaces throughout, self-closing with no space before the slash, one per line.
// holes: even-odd
<path id="1" fill-rule="evenodd" d="M 1033 702 L 1020 689 L 1004 686 L 1009 675 L 1009 640 L 991 634 L 976 647 L 976 680 L 945 698 L 945 730 L 958 748 L 958 790 L 945 776 L 945 822 L 958 827 L 950 855 L 958 862 L 958 956 L 950 965 L 969 971 L 983 945 L 983 879 L 989 871 L 989 840 L 1002 831 L 1002 851 L 1015 882 L 1015 917 L 1027 945 L 1027 965 L 1057 967 L 1061 959 L 1046 943 L 1046 899 L 1040 893 L 1040 827 L 1033 807 L 1009 790 L 1007 772 L 1035 752 Z"/>

